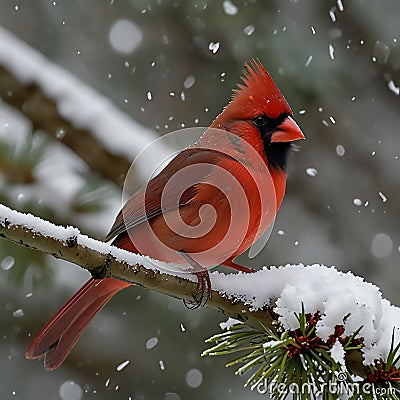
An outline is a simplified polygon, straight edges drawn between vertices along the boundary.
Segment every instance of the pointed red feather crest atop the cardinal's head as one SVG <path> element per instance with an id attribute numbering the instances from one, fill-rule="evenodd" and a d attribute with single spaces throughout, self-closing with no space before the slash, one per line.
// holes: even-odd
<path id="1" fill-rule="evenodd" d="M 252 118 L 260 113 L 270 118 L 292 115 L 288 102 L 259 60 L 253 59 L 250 64 L 245 64 L 242 81 L 234 89 L 228 105 L 238 118 Z"/>

